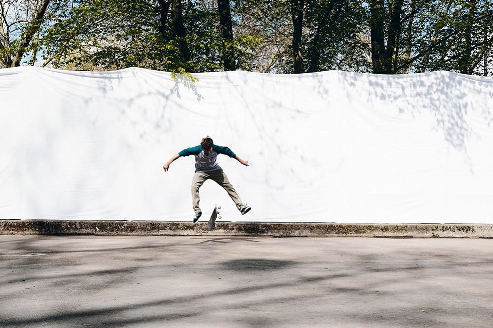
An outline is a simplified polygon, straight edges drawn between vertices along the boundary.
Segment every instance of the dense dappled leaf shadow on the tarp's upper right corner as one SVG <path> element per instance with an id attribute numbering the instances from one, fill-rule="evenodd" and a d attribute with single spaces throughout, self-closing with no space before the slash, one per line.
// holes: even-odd
<path id="1" fill-rule="evenodd" d="M 343 81 L 348 96 L 357 95 L 370 107 L 384 106 L 380 109 L 387 110 L 389 116 L 417 118 L 431 113 L 432 130 L 443 135 L 449 149 L 462 153 L 472 171 L 468 142 L 481 139 L 481 131 L 472 122 L 480 118 L 485 129 L 493 126 L 493 81 L 446 71 L 392 76 L 346 73 Z"/>

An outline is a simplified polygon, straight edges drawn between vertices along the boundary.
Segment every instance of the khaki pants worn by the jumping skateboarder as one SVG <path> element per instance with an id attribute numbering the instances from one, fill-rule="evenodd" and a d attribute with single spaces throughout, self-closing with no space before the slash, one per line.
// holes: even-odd
<path id="1" fill-rule="evenodd" d="M 233 185 L 229 183 L 228 177 L 223 172 L 222 169 L 211 171 L 211 172 L 195 172 L 192 181 L 192 202 L 193 202 L 193 210 L 195 213 L 201 212 L 200 210 L 200 194 L 199 189 L 202 187 L 204 182 L 208 179 L 214 180 L 218 185 L 224 188 L 228 192 L 229 197 L 236 204 L 236 208 L 239 210 L 243 207 L 243 203 L 241 202 L 238 193 L 234 190 Z"/>

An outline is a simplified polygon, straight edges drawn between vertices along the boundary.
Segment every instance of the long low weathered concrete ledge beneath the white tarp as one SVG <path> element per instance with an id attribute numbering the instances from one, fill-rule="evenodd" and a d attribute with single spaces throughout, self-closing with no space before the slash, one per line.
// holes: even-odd
<path id="1" fill-rule="evenodd" d="M 0 220 L 0 235 L 209 235 L 273 237 L 493 238 L 487 224 L 343 224 L 177 221 Z"/>

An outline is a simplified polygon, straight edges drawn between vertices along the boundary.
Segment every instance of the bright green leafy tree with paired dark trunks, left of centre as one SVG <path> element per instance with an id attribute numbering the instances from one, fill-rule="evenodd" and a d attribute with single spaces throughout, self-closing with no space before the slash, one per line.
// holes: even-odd
<path id="1" fill-rule="evenodd" d="M 193 72 L 186 29 L 188 5 L 181 0 L 87 0 L 60 16 L 46 36 L 46 59 L 73 69 L 130 66 Z M 194 35 L 195 31 L 192 31 Z M 199 54 L 197 54 L 199 56 Z"/>

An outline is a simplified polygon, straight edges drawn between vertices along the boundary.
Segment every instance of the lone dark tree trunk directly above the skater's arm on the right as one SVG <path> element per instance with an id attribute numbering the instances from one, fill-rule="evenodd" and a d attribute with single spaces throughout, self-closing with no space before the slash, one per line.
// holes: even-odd
<path id="1" fill-rule="evenodd" d="M 229 0 L 218 0 L 219 24 L 221 26 L 221 36 L 223 37 L 224 52 L 223 66 L 224 70 L 236 70 L 236 61 L 234 58 L 233 41 L 233 22 L 231 19 L 231 5 Z"/>

